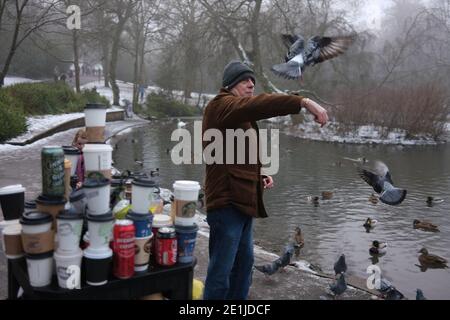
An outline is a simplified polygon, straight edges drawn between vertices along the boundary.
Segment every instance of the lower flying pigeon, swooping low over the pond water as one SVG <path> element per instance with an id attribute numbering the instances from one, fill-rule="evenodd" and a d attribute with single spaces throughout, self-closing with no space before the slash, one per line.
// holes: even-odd
<path id="1" fill-rule="evenodd" d="M 380 194 L 381 202 L 391 206 L 398 205 L 406 198 L 406 190 L 394 187 L 388 167 L 381 161 L 375 161 L 373 168 L 358 168 L 359 176 Z"/>

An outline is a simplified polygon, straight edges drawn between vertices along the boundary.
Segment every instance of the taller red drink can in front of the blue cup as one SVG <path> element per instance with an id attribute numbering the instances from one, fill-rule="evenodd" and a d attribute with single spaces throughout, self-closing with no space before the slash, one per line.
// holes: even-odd
<path id="1" fill-rule="evenodd" d="M 113 273 L 119 279 L 134 275 L 135 230 L 133 221 L 117 220 L 114 225 Z"/>

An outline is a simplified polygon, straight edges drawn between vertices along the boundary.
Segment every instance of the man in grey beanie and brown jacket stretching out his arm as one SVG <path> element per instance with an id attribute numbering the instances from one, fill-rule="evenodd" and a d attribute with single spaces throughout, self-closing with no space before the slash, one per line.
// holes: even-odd
<path id="1" fill-rule="evenodd" d="M 203 133 L 208 129 L 220 130 L 223 137 L 227 129 L 250 129 L 257 133 L 257 120 L 297 114 L 302 107 L 322 126 L 328 121 L 326 110 L 310 99 L 280 94 L 253 96 L 254 72 L 239 61 L 225 67 L 222 84 L 220 93 L 205 108 Z M 204 141 L 203 148 L 209 143 L 212 141 Z M 245 152 L 248 156 L 247 145 Z M 225 147 L 223 154 L 226 159 Z M 210 238 L 205 300 L 247 298 L 252 281 L 253 218 L 267 217 L 262 192 L 273 187 L 273 179 L 261 175 L 259 155 L 257 159 L 256 164 L 206 165 Z"/>

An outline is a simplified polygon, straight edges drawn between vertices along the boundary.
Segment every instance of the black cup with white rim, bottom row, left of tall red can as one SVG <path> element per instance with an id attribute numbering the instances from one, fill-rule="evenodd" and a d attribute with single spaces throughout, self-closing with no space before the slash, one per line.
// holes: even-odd
<path id="1" fill-rule="evenodd" d="M 113 252 L 110 248 L 94 249 L 89 246 L 84 250 L 83 268 L 87 284 L 91 286 L 102 286 L 108 283 L 112 256 Z"/>

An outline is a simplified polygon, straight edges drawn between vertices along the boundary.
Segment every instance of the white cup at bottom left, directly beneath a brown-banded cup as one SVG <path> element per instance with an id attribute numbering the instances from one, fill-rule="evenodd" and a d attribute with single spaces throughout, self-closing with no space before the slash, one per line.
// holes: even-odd
<path id="1" fill-rule="evenodd" d="M 52 282 L 53 251 L 27 254 L 28 276 L 32 287 L 45 287 Z"/>

